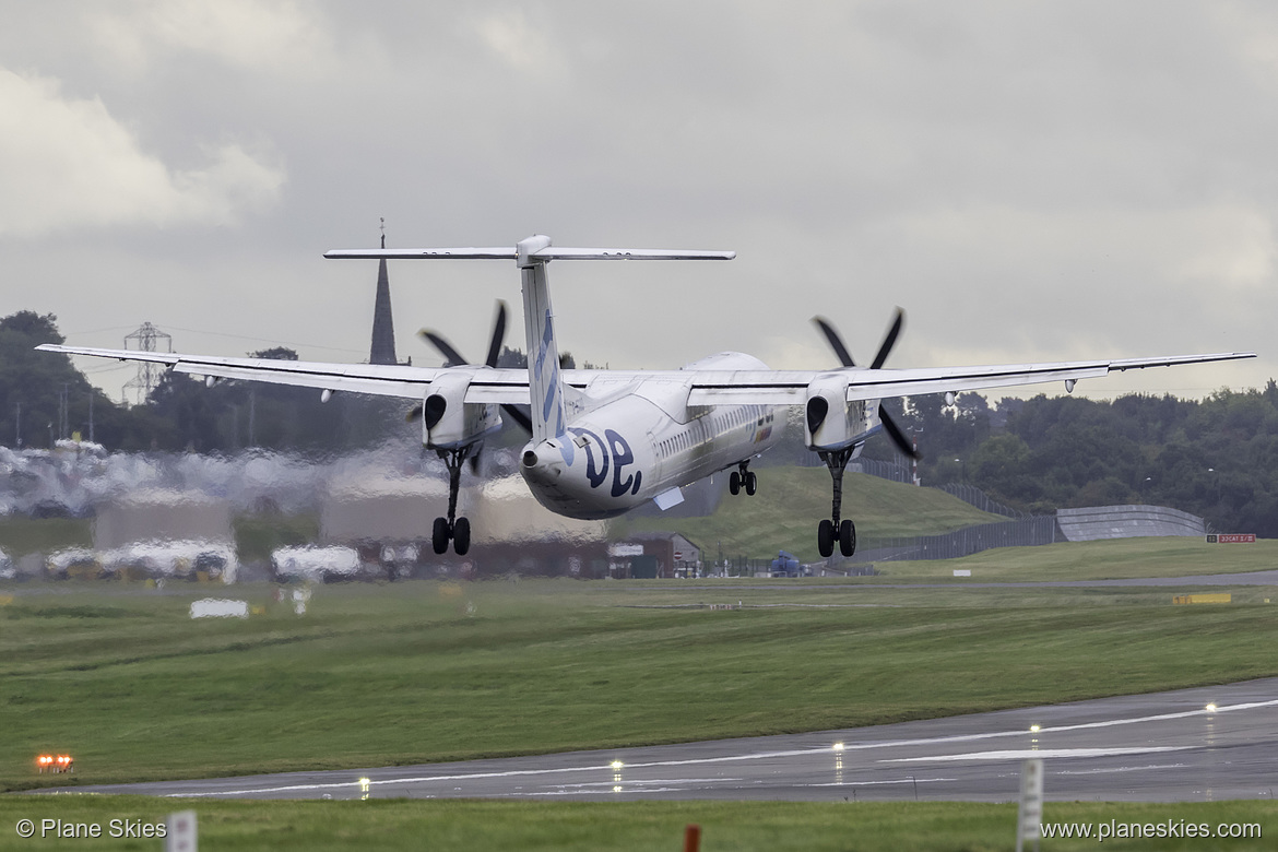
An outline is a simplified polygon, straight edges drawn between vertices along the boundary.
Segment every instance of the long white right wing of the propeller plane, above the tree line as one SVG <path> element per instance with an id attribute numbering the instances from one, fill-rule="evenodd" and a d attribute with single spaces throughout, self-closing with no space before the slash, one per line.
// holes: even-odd
<path id="1" fill-rule="evenodd" d="M 1019 384 L 1100 378 L 1109 373 L 1148 367 L 1205 364 L 1242 358 L 1255 353 L 1215 353 L 1210 355 L 1166 355 L 1044 364 L 990 364 L 985 367 L 939 367 L 924 369 L 836 370 L 695 370 L 689 405 L 801 405 L 808 384 L 819 376 L 840 376 L 847 381 L 847 400 L 881 400 L 895 396 L 921 396 L 961 391 L 980 391 Z M 686 376 L 686 374 L 685 374 Z"/>

